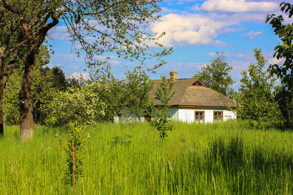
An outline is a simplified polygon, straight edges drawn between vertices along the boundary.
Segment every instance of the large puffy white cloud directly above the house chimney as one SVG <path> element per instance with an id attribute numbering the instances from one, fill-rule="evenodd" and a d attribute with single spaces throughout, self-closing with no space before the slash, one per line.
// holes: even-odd
<path id="1" fill-rule="evenodd" d="M 225 21 L 215 21 L 197 14 L 167 14 L 153 24 L 153 32 L 166 32 L 160 39 L 164 46 L 211 45 L 227 46 L 217 38 L 217 31 L 227 26 Z"/>

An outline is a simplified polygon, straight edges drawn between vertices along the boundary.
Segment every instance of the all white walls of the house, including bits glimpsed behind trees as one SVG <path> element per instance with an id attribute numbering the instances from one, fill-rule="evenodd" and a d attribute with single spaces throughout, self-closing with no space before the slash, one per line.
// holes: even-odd
<path id="1" fill-rule="evenodd" d="M 172 106 L 168 109 L 172 120 L 193 123 L 194 122 L 194 111 L 205 111 L 205 123 L 213 122 L 213 111 L 223 111 L 223 120 L 236 119 L 235 113 L 227 110 L 227 108 L 193 108 L 193 107 L 177 107 Z M 134 116 L 131 113 L 127 114 L 129 117 L 123 120 L 134 121 Z M 136 119 L 138 121 L 138 119 Z M 141 121 L 145 122 L 145 116 L 141 116 Z M 119 122 L 119 117 L 114 115 L 114 122 Z"/>

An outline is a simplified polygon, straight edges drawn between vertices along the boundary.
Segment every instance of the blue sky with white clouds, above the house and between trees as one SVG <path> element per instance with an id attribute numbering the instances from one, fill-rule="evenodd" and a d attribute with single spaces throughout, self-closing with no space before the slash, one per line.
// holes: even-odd
<path id="1" fill-rule="evenodd" d="M 161 74 L 178 72 L 178 78 L 191 78 L 200 66 L 209 63 L 215 52 L 224 52 L 226 61 L 233 67 L 230 75 L 236 81 L 234 89 L 240 86 L 241 71 L 254 63 L 253 49 L 261 48 L 270 63 L 282 63 L 272 58 L 273 48 L 279 40 L 272 27 L 265 23 L 267 14 L 281 15 L 279 4 L 283 0 L 163 0 L 161 18 L 149 26 L 151 32 L 166 32 L 160 40 L 166 47 L 173 47 L 173 53 L 165 58 L 166 65 L 158 68 L 156 74 L 148 72 L 151 79 Z M 292 19 L 285 18 L 286 23 Z M 80 73 L 86 78 L 84 59 L 72 54 L 71 43 L 67 42 L 59 25 L 51 34 L 54 37 L 54 54 L 50 67 L 60 66 L 67 77 Z M 109 54 L 108 54 L 109 55 Z M 100 57 L 105 59 L 106 56 Z M 122 78 L 126 66 L 132 70 L 138 62 L 129 62 L 117 56 L 109 60 L 112 73 Z M 278 83 L 276 83 L 278 84 Z"/>

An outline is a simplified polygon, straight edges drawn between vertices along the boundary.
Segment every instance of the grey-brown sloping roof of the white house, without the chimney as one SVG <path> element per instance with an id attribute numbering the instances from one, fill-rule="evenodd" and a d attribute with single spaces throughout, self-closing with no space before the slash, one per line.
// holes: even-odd
<path id="1" fill-rule="evenodd" d="M 195 106 L 195 107 L 236 107 L 236 102 L 232 99 L 208 88 L 202 83 L 202 86 L 192 85 L 197 78 L 181 78 L 174 80 L 172 91 L 175 95 L 170 99 L 169 104 L 173 106 Z M 162 80 L 152 80 L 154 86 L 150 91 L 150 100 L 155 105 L 160 105 L 160 101 L 155 98 L 155 92 L 160 87 Z"/>

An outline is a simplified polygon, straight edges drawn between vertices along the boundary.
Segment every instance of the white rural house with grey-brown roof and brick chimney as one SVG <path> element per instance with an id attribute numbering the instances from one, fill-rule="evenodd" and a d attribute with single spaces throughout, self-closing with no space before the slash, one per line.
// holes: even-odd
<path id="1" fill-rule="evenodd" d="M 197 78 L 180 78 L 177 72 L 170 72 L 170 79 L 174 81 L 172 91 L 175 95 L 170 99 L 171 107 L 168 109 L 173 120 L 183 122 L 211 123 L 214 121 L 226 121 L 235 119 L 236 115 L 230 108 L 236 108 L 236 102 L 232 99 L 208 88 Z M 153 89 L 150 91 L 150 100 L 155 105 L 160 105 L 160 101 L 154 96 L 162 80 L 152 80 Z M 147 116 L 141 116 L 145 121 Z M 114 122 L 118 122 L 117 115 Z"/>

